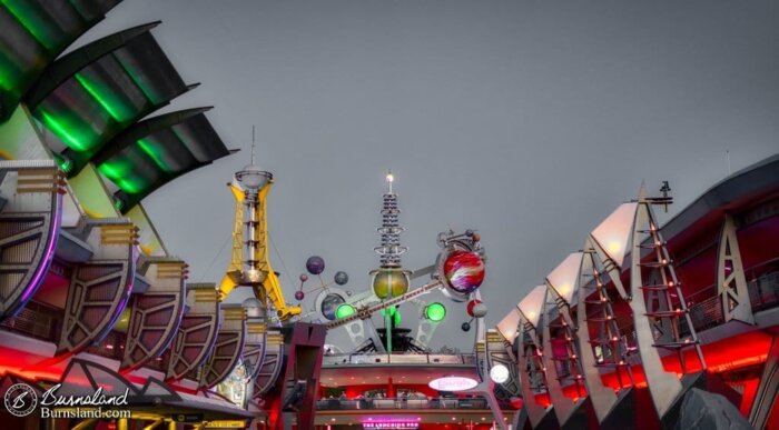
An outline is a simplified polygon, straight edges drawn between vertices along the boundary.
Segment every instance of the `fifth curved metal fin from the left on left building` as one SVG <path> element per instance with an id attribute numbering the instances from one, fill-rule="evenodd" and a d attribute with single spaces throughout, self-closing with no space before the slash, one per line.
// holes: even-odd
<path id="1" fill-rule="evenodd" d="M 246 310 L 240 304 L 223 304 L 224 322 L 208 360 L 200 369 L 198 388 L 210 389 L 230 374 L 244 353 Z"/>

